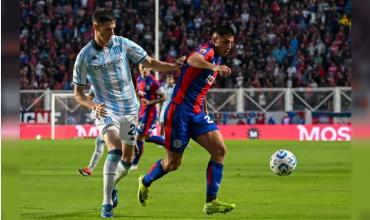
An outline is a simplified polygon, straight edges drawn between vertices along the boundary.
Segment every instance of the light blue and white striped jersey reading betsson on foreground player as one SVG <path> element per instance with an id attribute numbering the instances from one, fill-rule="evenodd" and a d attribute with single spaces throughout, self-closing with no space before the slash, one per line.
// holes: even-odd
<path id="1" fill-rule="evenodd" d="M 107 47 L 90 41 L 77 55 L 73 83 L 85 86 L 87 80 L 94 91 L 94 102 L 105 103 L 108 113 L 135 115 L 137 98 L 129 60 L 138 65 L 148 56 L 133 41 L 113 35 Z"/>

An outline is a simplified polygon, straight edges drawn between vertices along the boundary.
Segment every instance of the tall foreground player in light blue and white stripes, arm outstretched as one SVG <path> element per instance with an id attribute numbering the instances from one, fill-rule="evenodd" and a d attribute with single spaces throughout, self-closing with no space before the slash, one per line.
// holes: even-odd
<path id="1" fill-rule="evenodd" d="M 94 39 L 77 55 L 73 69 L 74 95 L 83 106 L 96 111 L 95 124 L 108 148 L 103 169 L 101 217 L 113 217 L 118 193 L 115 185 L 127 175 L 136 145 L 138 104 L 129 61 L 158 72 L 179 69 L 185 57 L 166 63 L 148 56 L 133 41 L 114 35 L 111 11 L 98 9 L 93 16 Z M 94 101 L 84 94 L 87 80 L 95 91 Z"/>

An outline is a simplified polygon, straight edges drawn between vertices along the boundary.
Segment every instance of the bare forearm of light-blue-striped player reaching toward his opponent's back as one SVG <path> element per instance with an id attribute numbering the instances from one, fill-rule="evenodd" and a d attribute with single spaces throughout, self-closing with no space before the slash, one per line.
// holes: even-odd
<path id="1" fill-rule="evenodd" d="M 170 72 L 174 70 L 178 70 L 182 65 L 184 65 L 186 57 L 180 57 L 176 60 L 176 63 L 167 63 L 152 57 L 147 56 L 147 58 L 143 61 L 143 65 L 146 68 L 150 68 L 157 72 Z"/>

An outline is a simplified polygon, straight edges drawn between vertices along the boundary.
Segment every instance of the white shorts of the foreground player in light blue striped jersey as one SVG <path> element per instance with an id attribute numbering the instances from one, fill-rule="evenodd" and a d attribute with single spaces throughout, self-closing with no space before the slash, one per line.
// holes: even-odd
<path id="1" fill-rule="evenodd" d="M 102 135 L 109 130 L 116 130 L 124 143 L 136 145 L 137 115 L 108 114 L 104 118 L 96 119 L 95 125 Z"/>

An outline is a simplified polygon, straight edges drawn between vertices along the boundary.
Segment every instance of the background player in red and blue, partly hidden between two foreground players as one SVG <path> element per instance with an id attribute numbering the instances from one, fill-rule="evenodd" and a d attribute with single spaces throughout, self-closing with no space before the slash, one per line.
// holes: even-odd
<path id="1" fill-rule="evenodd" d="M 136 91 L 140 100 L 139 125 L 137 129 L 135 156 L 131 169 L 137 169 L 137 164 L 144 152 L 144 141 L 153 142 L 164 146 L 164 139 L 161 136 L 151 135 L 157 122 L 157 103 L 166 100 L 164 90 L 160 87 L 159 81 L 150 74 L 150 69 L 139 65 L 140 75 L 136 81 Z"/>

